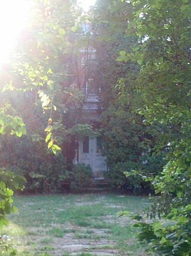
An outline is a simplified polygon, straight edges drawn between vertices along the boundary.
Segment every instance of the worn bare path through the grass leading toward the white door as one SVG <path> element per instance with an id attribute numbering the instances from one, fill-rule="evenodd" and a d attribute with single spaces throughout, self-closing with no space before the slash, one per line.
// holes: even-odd
<path id="1" fill-rule="evenodd" d="M 99 203 L 97 201 L 96 203 Z M 76 202 L 76 206 L 85 206 L 93 204 L 91 202 Z M 108 207 L 118 207 L 115 204 L 107 204 Z M 118 218 L 116 215 L 100 216 L 97 221 L 107 222 L 109 224 L 126 225 L 131 222 L 127 216 Z M 54 239 L 53 246 L 57 248 L 53 252 L 53 256 L 119 256 L 131 255 L 129 252 L 120 252 L 116 249 L 116 241 L 109 238 L 110 228 L 85 228 L 68 223 L 65 226 L 67 233 L 61 237 Z M 75 231 L 75 232 L 74 232 Z M 77 234 L 77 235 L 76 235 Z M 129 241 L 130 242 L 130 241 Z M 137 256 L 144 256 L 144 252 Z"/>

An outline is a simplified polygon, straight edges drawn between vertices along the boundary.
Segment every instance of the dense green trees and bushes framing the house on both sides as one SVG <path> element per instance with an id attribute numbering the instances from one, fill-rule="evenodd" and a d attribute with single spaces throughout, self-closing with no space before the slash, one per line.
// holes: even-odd
<path id="1" fill-rule="evenodd" d="M 24 174 L 30 191 L 62 191 L 75 179 L 76 136 L 93 131 L 80 118 L 73 67 L 91 40 L 97 65 L 87 79 L 93 73 L 101 86 L 107 175 L 126 192 L 155 191 L 148 214 L 167 221 L 141 221 L 140 239 L 162 255 L 190 255 L 190 0 L 97 1 L 85 17 L 75 1 L 35 2 L 35 19 L 2 73 L 1 167 Z M 81 37 L 87 20 L 94 33 Z M 11 206 L 8 179 L 0 192 Z"/>

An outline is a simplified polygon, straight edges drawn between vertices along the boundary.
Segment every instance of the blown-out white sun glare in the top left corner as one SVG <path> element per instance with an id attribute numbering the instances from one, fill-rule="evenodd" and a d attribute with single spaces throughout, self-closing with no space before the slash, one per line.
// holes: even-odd
<path id="1" fill-rule="evenodd" d="M 29 19 L 29 0 L 0 0 L 0 63 L 6 62 L 17 37 Z"/>

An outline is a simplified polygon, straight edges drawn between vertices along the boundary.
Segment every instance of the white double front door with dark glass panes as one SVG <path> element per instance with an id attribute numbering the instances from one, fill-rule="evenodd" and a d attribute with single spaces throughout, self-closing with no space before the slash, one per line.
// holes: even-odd
<path id="1" fill-rule="evenodd" d="M 100 137 L 87 136 L 79 141 L 79 163 L 90 164 L 94 174 L 106 171 L 106 157 L 102 155 Z"/>

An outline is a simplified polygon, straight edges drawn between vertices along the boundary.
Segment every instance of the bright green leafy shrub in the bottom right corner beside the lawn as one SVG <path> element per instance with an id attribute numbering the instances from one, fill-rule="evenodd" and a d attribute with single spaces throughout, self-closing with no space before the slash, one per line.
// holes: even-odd
<path id="1" fill-rule="evenodd" d="M 190 204 L 185 208 L 172 209 L 167 219 L 146 222 L 143 216 L 121 212 L 120 215 L 130 215 L 136 222 L 133 227 L 140 228 L 140 241 L 149 243 L 148 251 L 159 255 L 183 256 L 190 254 Z"/>

